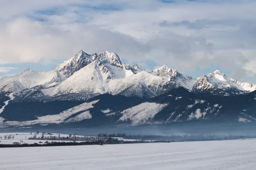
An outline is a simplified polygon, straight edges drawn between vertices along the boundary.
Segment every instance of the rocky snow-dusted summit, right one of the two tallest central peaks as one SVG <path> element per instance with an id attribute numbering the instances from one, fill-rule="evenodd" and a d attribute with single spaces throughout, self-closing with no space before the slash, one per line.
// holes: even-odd
<path id="1" fill-rule="evenodd" d="M 109 51 L 103 51 L 101 54 L 99 54 L 99 60 L 103 63 L 109 62 L 112 65 L 122 65 L 118 55 Z"/>

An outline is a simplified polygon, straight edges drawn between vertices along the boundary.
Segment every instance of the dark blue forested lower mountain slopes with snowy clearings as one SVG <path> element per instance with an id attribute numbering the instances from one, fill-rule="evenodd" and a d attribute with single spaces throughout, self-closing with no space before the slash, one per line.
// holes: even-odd
<path id="1" fill-rule="evenodd" d="M 40 111 L 40 108 L 45 110 Z M 219 96 L 195 94 L 180 87 L 150 99 L 102 94 L 84 102 L 10 102 L 0 114 L 0 120 L 2 126 L 78 124 L 82 127 L 202 120 L 255 122 L 256 91 L 236 96 Z"/>

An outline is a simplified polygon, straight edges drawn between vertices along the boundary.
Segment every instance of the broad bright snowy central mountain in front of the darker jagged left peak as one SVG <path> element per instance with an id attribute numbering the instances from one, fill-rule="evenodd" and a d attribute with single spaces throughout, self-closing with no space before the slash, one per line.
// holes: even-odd
<path id="1" fill-rule="evenodd" d="M 153 97 L 172 88 L 176 88 L 174 82 L 143 71 L 137 65 L 122 63 L 115 53 L 104 51 L 59 85 L 43 89 L 42 92 L 46 96 L 81 93 L 89 99 L 105 93 Z"/>

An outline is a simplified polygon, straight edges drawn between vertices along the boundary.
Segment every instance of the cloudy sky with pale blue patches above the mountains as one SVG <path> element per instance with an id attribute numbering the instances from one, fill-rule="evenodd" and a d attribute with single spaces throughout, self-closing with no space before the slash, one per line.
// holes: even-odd
<path id="1" fill-rule="evenodd" d="M 256 83 L 255 0 L 0 0 L 0 77 L 49 71 L 79 50 Z"/>

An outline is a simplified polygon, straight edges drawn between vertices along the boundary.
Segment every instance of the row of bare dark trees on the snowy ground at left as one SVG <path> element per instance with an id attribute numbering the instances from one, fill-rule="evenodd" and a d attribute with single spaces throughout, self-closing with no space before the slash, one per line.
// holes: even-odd
<path id="1" fill-rule="evenodd" d="M 33 137 L 29 137 L 29 140 L 50 140 L 50 141 L 90 141 L 90 142 L 105 142 L 109 138 L 108 137 L 87 137 L 87 136 L 76 136 L 75 134 L 69 134 L 69 136 L 61 136 L 58 134 L 58 136 L 45 136 L 42 134 L 41 136 L 34 135 Z"/>

